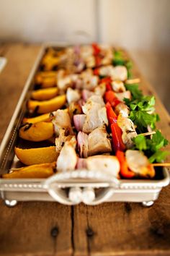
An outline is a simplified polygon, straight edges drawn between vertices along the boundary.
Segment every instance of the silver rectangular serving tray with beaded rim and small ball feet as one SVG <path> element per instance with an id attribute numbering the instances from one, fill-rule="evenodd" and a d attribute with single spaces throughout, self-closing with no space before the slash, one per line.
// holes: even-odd
<path id="1" fill-rule="evenodd" d="M 47 47 L 66 47 L 66 43 L 48 43 L 42 46 L 30 76 L 27 79 L 19 102 L 14 111 L 0 147 L 0 174 L 16 167 L 14 145 L 17 129 L 26 111 L 26 103 L 33 88 L 33 79 Z M 142 202 L 153 205 L 161 189 L 169 184 L 169 172 L 159 168 L 156 179 L 115 179 L 101 171 L 76 170 L 55 174 L 48 179 L 0 179 L 0 195 L 6 205 L 14 206 L 17 201 L 57 201 L 65 205 L 84 202 L 97 205 L 102 202 Z"/>

